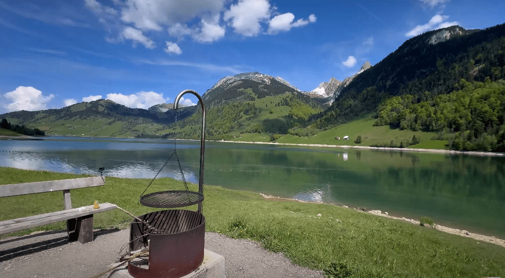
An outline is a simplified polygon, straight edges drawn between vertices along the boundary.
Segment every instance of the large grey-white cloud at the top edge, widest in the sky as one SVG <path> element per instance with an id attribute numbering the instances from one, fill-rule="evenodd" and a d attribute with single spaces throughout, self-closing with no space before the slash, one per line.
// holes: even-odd
<path id="1" fill-rule="evenodd" d="M 121 20 L 142 30 L 161 31 L 163 26 L 189 22 L 203 15 L 216 15 L 225 0 L 126 0 Z"/>

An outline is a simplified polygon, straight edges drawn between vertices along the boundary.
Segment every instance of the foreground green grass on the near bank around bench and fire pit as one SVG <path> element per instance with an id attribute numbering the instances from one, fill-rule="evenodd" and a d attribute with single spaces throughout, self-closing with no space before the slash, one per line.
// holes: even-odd
<path id="1" fill-rule="evenodd" d="M 0 168 L 0 177 L 4 183 L 20 183 L 82 175 Z M 107 177 L 105 186 L 71 190 L 72 204 L 79 207 L 98 200 L 134 215 L 145 214 L 157 210 L 138 201 L 149 181 Z M 194 184 L 189 187 L 196 190 Z M 182 188 L 180 181 L 161 178 L 147 192 Z M 204 194 L 207 231 L 259 241 L 301 266 L 330 272 L 355 269 L 353 278 L 505 276 L 505 248 L 498 245 L 330 204 L 270 201 L 257 193 L 211 185 L 205 186 Z M 62 208 L 61 192 L 4 197 L 0 221 Z M 113 210 L 97 214 L 94 227 L 125 227 L 129 221 L 129 216 Z M 16 234 L 64 228 L 61 222 Z"/>

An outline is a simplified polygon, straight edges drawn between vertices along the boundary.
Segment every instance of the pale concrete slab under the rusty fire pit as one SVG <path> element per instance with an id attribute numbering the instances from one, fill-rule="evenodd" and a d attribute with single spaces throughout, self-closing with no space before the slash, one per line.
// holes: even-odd
<path id="1" fill-rule="evenodd" d="M 115 263 L 110 265 L 110 267 L 114 267 L 119 263 Z M 224 257 L 216 254 L 212 251 L 204 249 L 204 261 L 201 263 L 200 267 L 198 267 L 195 271 L 182 276 L 181 278 L 191 278 L 194 277 L 204 277 L 203 274 L 207 278 L 226 278 L 225 275 L 225 266 L 224 266 Z M 108 278 L 134 278 L 130 273 L 128 273 L 128 264 L 125 263 L 123 266 L 114 269 L 108 276 Z"/>

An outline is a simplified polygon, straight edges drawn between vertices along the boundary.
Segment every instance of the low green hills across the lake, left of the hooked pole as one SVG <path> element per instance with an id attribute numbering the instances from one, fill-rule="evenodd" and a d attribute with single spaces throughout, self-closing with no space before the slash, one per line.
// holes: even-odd
<path id="1" fill-rule="evenodd" d="M 61 109 L 10 112 L 0 115 L 0 118 L 6 118 L 12 124 L 22 123 L 29 128 L 38 128 L 46 135 L 132 137 L 160 134 L 160 130 L 175 122 L 176 115 L 188 117 L 195 108 L 182 107 L 162 113 L 129 108 L 111 100 L 96 100 Z"/>

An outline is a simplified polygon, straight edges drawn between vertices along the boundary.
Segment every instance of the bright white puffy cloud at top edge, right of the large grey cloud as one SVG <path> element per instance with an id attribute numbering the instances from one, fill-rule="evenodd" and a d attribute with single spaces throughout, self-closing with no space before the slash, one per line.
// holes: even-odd
<path id="1" fill-rule="evenodd" d="M 234 32 L 243 36 L 256 36 L 261 30 L 261 21 L 270 18 L 268 0 L 239 0 L 224 13 L 223 19 L 229 21 Z"/>

